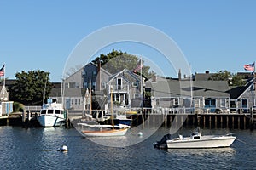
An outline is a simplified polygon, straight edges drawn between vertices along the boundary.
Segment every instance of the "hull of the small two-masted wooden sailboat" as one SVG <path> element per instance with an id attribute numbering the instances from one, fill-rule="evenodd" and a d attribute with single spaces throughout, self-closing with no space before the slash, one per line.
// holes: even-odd
<path id="1" fill-rule="evenodd" d="M 112 136 L 124 136 L 128 128 L 122 129 L 108 129 L 99 131 L 82 131 L 84 136 L 87 137 L 112 137 Z"/>

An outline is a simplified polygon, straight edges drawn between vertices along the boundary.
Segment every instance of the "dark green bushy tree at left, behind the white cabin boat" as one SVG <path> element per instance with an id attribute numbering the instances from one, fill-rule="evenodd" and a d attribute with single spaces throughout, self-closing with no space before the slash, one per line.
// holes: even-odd
<path id="1" fill-rule="evenodd" d="M 9 88 L 9 98 L 24 105 L 42 105 L 49 97 L 52 84 L 49 72 L 22 71 L 15 74 L 16 82 Z"/>

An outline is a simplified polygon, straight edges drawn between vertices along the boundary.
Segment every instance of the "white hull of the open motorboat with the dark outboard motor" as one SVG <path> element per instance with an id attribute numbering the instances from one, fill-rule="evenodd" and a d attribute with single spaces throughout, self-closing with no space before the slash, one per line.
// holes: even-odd
<path id="1" fill-rule="evenodd" d="M 169 149 L 197 149 L 230 147 L 235 141 L 235 136 L 204 136 L 201 139 L 166 140 Z"/>

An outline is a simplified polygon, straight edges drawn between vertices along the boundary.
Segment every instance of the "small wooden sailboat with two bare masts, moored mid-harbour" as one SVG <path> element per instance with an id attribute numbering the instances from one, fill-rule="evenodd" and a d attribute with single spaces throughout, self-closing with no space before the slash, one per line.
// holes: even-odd
<path id="1" fill-rule="evenodd" d="M 91 88 L 90 88 L 90 96 L 91 96 Z M 91 105 L 91 100 L 90 100 Z M 111 119 L 112 125 L 100 125 L 97 122 L 79 122 L 78 125 L 81 127 L 81 133 L 85 137 L 112 137 L 112 136 L 124 136 L 127 132 L 128 128 L 114 126 L 113 124 L 113 94 L 111 90 Z M 91 112 L 91 107 L 90 107 Z M 85 129 L 84 129 L 85 128 Z"/>

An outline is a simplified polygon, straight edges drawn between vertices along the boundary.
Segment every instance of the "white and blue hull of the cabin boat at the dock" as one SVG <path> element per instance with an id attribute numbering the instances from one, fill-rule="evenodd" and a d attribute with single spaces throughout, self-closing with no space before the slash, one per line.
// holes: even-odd
<path id="1" fill-rule="evenodd" d="M 38 122 L 42 127 L 61 127 L 66 119 L 58 116 L 42 115 L 38 116 Z"/>

